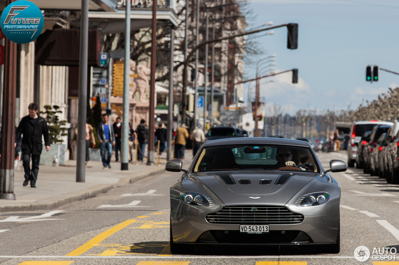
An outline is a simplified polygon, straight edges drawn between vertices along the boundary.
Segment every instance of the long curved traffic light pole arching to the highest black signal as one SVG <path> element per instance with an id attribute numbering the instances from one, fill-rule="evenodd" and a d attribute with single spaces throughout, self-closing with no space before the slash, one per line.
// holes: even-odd
<path id="1" fill-rule="evenodd" d="M 270 29 L 276 29 L 279 27 L 290 27 L 292 24 L 282 24 L 282 25 L 277 25 L 274 27 L 267 27 L 265 29 L 257 29 L 257 30 L 252 30 L 252 31 L 244 31 L 238 34 L 234 34 L 234 35 L 228 35 L 225 37 L 220 37 L 217 39 L 210 39 L 207 41 L 203 41 L 201 43 L 199 43 L 198 45 L 196 45 L 188 54 L 186 60 L 184 61 L 184 68 L 183 68 L 183 95 L 182 95 L 182 121 L 186 120 L 186 109 L 187 109 L 187 105 L 186 105 L 186 97 L 187 97 L 187 83 L 188 83 L 188 62 L 190 61 L 190 58 L 194 55 L 194 53 L 201 48 L 204 45 L 207 45 L 208 43 L 214 43 L 214 42 L 219 42 L 219 41 L 224 41 L 225 39 L 233 39 L 236 37 L 241 37 L 241 36 L 245 36 L 245 35 L 250 35 L 250 34 L 254 34 L 254 33 L 258 33 L 258 32 L 262 32 L 262 31 L 266 31 L 266 30 L 270 30 Z M 293 48 L 294 49 L 294 48 Z M 291 70 L 290 70 L 291 71 Z M 288 72 L 288 71 L 286 71 Z M 255 80 L 255 79 L 254 79 Z"/>

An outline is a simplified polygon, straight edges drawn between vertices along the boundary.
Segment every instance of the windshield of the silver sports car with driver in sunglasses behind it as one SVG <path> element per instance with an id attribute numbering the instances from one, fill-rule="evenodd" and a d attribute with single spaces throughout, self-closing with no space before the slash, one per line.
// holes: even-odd
<path id="1" fill-rule="evenodd" d="M 248 169 L 319 172 L 308 147 L 269 144 L 207 147 L 194 166 L 194 172 Z"/>

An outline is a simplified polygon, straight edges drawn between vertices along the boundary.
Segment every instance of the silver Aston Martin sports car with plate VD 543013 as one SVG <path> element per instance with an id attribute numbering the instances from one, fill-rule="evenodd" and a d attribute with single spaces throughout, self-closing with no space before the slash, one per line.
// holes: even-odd
<path id="1" fill-rule="evenodd" d="M 201 245 L 311 245 L 340 251 L 340 194 L 307 142 L 279 138 L 207 141 L 170 187 L 170 249 Z"/>

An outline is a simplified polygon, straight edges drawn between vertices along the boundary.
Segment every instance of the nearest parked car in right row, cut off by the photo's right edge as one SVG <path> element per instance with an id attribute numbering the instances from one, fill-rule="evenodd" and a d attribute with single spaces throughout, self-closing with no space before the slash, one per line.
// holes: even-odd
<path id="1" fill-rule="evenodd" d="M 383 146 L 383 156 L 385 159 L 385 178 L 388 183 L 392 182 L 392 171 L 393 165 L 397 164 L 397 158 L 393 156 L 397 152 L 397 142 L 394 142 L 398 138 L 397 134 L 399 132 L 399 122 L 395 121 L 393 126 L 387 132 L 385 136 L 385 146 Z M 393 160 L 395 159 L 395 161 Z"/>

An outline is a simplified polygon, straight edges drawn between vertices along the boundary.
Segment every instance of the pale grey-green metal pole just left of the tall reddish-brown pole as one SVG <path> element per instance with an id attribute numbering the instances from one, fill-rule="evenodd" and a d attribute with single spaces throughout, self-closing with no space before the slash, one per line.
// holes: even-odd
<path id="1" fill-rule="evenodd" d="M 125 10 L 125 49 L 123 62 L 123 103 L 122 137 L 120 148 L 120 170 L 129 168 L 129 90 L 130 90 L 130 0 L 126 1 Z"/>

